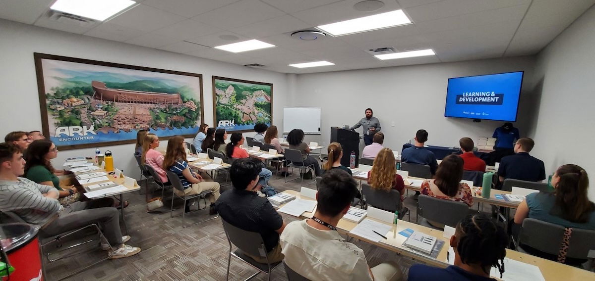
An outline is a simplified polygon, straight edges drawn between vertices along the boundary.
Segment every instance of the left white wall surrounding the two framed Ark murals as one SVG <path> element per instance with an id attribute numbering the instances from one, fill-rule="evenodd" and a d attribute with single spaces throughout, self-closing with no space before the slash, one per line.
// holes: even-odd
<path id="1" fill-rule="evenodd" d="M 203 75 L 205 121 L 209 125 L 213 125 L 212 75 L 273 83 L 273 124 L 281 124 L 283 106 L 288 106 L 285 74 L 0 20 L 0 136 L 11 131 L 42 128 L 34 52 L 200 73 Z M 162 142 L 161 146 L 165 145 L 167 142 Z M 111 150 L 115 166 L 139 178 L 136 162 L 131 157 L 134 144 L 100 149 Z M 60 151 L 54 165 L 61 165 L 66 157 L 93 156 L 94 153 L 95 149 Z"/>

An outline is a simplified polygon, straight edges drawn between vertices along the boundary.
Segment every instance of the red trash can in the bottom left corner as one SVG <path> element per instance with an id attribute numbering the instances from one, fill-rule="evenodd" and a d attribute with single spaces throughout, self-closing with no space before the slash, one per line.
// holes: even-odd
<path id="1" fill-rule="evenodd" d="M 8 263 L 14 267 L 10 280 L 42 281 L 42 264 L 37 233 L 39 226 L 28 223 L 5 223 L 0 225 L 1 244 L 8 255 Z M 2 277 L 8 280 L 8 277 Z"/>

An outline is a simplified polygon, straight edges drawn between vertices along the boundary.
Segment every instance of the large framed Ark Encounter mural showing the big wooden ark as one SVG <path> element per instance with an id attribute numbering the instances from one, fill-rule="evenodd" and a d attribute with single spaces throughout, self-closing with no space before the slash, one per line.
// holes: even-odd
<path id="1" fill-rule="evenodd" d="M 193 137 L 202 75 L 34 53 L 43 134 L 58 149 L 136 142 L 138 130 Z"/>

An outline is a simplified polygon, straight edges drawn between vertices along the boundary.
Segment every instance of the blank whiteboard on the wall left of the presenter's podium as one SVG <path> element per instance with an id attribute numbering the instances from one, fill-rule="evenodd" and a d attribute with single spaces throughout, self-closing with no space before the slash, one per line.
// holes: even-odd
<path id="1" fill-rule="evenodd" d="M 283 134 L 301 129 L 305 134 L 320 135 L 321 108 L 283 108 Z"/>

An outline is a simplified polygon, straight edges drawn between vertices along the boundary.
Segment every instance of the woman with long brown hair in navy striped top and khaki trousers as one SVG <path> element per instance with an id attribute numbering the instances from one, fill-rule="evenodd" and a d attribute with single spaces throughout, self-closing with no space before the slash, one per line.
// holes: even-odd
<path id="1" fill-rule="evenodd" d="M 198 175 L 190 169 L 188 160 L 186 160 L 186 144 L 184 143 L 184 137 L 181 135 L 176 135 L 167 141 L 167 153 L 165 153 L 163 159 L 163 169 L 169 169 L 169 171 L 176 173 L 180 178 L 184 191 L 174 188 L 174 192 L 176 192 L 177 195 L 195 195 L 201 194 L 201 192 L 205 190 L 212 190 L 213 193 L 206 195 L 206 198 L 211 201 L 209 214 L 215 214 L 215 201 L 220 195 L 220 185 L 218 182 L 204 181 L 201 175 Z M 192 204 L 192 201 L 186 201 L 184 211 L 190 211 L 190 204 Z"/>

